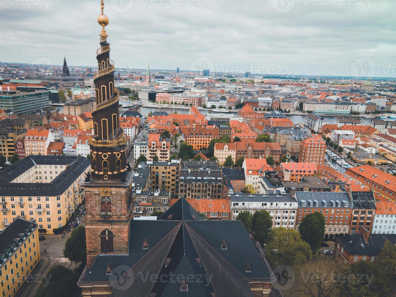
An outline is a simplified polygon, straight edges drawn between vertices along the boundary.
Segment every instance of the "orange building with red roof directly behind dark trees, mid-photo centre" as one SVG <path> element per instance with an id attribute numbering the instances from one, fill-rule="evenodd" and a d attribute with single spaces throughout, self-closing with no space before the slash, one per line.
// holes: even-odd
<path id="1" fill-rule="evenodd" d="M 212 139 L 219 138 L 218 128 L 179 128 L 180 134 L 194 150 L 208 148 Z"/>

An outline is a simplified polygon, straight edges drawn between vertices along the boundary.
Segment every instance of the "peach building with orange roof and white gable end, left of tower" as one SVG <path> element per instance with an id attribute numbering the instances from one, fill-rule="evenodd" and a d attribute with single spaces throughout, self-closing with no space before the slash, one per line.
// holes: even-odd
<path id="1" fill-rule="evenodd" d="M 25 155 L 43 155 L 48 154 L 49 143 L 55 139 L 51 131 L 42 129 L 29 129 L 25 137 Z"/>

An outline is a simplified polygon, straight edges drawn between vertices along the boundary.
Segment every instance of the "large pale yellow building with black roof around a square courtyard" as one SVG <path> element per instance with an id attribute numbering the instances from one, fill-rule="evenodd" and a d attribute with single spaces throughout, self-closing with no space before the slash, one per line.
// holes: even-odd
<path id="1" fill-rule="evenodd" d="M 84 200 L 81 187 L 90 161 L 77 156 L 27 156 L 0 172 L 0 221 L 34 219 L 53 233 L 65 226 Z"/>

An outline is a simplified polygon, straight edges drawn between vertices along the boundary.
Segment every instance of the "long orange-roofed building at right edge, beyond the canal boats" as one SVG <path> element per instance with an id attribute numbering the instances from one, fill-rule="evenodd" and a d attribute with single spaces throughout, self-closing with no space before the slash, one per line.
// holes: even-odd
<path id="1" fill-rule="evenodd" d="M 370 165 L 348 168 L 345 174 L 353 181 L 373 190 L 375 199 L 383 197 L 396 203 L 396 183 L 393 175 Z"/>

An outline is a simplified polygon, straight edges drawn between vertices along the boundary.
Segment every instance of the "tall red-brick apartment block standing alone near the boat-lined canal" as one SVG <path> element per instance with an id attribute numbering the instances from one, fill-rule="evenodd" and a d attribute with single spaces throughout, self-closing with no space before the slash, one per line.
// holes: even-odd
<path id="1" fill-rule="evenodd" d="M 301 141 L 299 163 L 315 162 L 319 166 L 323 166 L 325 157 L 326 143 L 318 136 L 308 137 Z"/>

